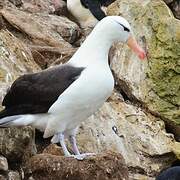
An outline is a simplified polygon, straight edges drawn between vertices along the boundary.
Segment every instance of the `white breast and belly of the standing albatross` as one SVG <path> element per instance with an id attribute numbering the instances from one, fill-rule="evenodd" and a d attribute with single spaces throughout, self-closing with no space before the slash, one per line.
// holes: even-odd
<path id="1" fill-rule="evenodd" d="M 86 68 L 49 109 L 52 118 L 48 122 L 46 135 L 79 126 L 103 105 L 113 87 L 114 79 L 109 67 Z"/>

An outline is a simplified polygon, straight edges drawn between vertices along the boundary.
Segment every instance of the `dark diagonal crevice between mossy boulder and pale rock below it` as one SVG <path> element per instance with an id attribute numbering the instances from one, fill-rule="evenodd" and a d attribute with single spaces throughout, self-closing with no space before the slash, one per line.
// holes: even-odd
<path id="1" fill-rule="evenodd" d="M 117 78 L 117 75 L 115 74 L 115 72 L 113 72 L 113 75 L 116 79 L 115 89 L 123 96 L 124 101 L 126 102 L 128 100 L 128 102 L 130 102 L 134 106 L 137 106 L 138 108 L 141 108 L 145 113 L 149 113 L 149 114 L 163 120 L 165 123 L 165 129 L 166 129 L 167 133 L 174 134 L 175 140 L 180 142 L 180 126 L 177 126 L 177 124 L 175 122 L 169 120 L 168 118 L 165 118 L 159 112 L 155 112 L 155 111 L 149 109 L 149 107 L 146 103 L 139 100 L 137 97 L 135 97 L 132 94 L 131 87 L 125 81 Z"/>

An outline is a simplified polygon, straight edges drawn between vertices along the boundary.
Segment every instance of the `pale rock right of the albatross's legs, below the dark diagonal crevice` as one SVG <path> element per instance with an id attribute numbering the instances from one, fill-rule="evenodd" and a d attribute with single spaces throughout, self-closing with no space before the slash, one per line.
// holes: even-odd
<path id="1" fill-rule="evenodd" d="M 165 132 L 164 122 L 125 103 L 115 93 L 108 102 L 80 127 L 80 152 L 119 152 L 132 176 L 155 176 L 176 158 L 174 138 Z"/>

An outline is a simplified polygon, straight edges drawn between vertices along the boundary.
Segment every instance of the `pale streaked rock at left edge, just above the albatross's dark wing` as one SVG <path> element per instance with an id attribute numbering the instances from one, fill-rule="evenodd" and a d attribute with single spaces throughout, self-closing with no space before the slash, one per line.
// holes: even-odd
<path id="1" fill-rule="evenodd" d="M 0 102 L 10 84 L 20 75 L 40 70 L 30 49 L 9 31 L 0 31 Z"/>

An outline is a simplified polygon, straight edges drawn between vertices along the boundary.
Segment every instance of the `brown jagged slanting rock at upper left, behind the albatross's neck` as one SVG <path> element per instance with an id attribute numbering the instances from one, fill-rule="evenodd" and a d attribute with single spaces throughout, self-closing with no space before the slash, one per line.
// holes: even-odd
<path id="1" fill-rule="evenodd" d="M 30 47 L 35 61 L 42 68 L 57 58 L 57 63 L 65 62 L 75 52 L 71 43 L 79 37 L 80 29 L 66 17 L 10 7 L 1 10 L 1 15 L 11 25 L 7 24 L 7 28 Z"/>

